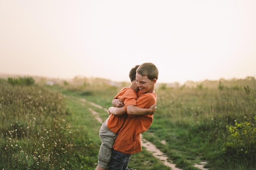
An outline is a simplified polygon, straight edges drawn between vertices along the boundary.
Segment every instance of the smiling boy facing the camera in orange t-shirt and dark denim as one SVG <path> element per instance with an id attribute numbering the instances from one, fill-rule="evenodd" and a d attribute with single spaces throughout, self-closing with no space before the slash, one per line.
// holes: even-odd
<path id="1" fill-rule="evenodd" d="M 155 93 L 155 83 L 158 78 L 158 69 L 153 63 L 143 63 L 136 71 L 136 82 L 139 87 L 136 104 L 125 105 L 124 108 L 111 107 L 112 114 L 121 115 L 126 110 L 128 117 L 124 125 L 119 130 L 112 150 L 112 156 L 108 165 L 108 170 L 131 170 L 128 169 L 130 156 L 133 153 L 141 152 L 141 133 L 148 130 L 153 122 L 153 115 L 136 114 L 135 105 L 149 108 L 156 104 L 157 95 Z M 115 103 L 115 102 L 113 102 Z"/>

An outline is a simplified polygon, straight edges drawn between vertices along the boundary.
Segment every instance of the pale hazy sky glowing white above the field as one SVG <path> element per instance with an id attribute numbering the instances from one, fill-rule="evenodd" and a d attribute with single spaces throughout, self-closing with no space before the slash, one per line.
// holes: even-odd
<path id="1" fill-rule="evenodd" d="M 158 82 L 256 75 L 256 0 L 0 0 L 0 74 Z"/>

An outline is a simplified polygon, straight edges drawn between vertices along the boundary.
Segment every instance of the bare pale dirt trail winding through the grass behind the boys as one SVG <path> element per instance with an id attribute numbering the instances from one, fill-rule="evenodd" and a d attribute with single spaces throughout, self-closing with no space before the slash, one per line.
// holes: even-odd
<path id="1" fill-rule="evenodd" d="M 108 113 L 108 109 L 103 108 L 102 106 L 100 106 L 100 105 L 98 105 L 98 104 L 89 102 L 89 101 L 87 101 L 87 100 L 85 100 L 85 99 L 81 99 L 81 101 L 82 101 L 82 102 L 88 102 L 88 103 L 90 103 L 92 106 L 97 107 L 97 108 L 100 108 L 100 109 L 103 109 L 103 110 L 105 110 L 105 111 Z M 89 108 L 89 110 L 90 110 L 90 112 L 95 116 L 95 119 L 97 119 L 97 120 L 102 124 L 102 123 L 103 123 L 103 120 L 102 120 L 101 117 L 99 116 L 99 113 L 96 112 L 96 111 L 94 111 L 92 108 Z M 157 159 L 159 159 L 160 161 L 162 161 L 162 162 L 164 163 L 164 165 L 166 165 L 166 166 L 168 166 L 168 167 L 171 167 L 172 170 L 182 170 L 182 169 L 180 169 L 180 168 L 176 168 L 176 167 L 175 167 L 175 164 L 173 164 L 173 163 L 171 163 L 171 162 L 168 162 L 168 161 L 167 161 L 167 158 L 168 158 L 168 157 L 166 157 L 163 152 L 161 152 L 159 149 L 157 149 L 157 147 L 156 147 L 154 144 L 152 144 L 151 142 L 149 142 L 149 141 L 147 141 L 146 139 L 144 139 L 144 138 L 142 137 L 142 134 L 141 134 L 141 141 L 142 141 L 142 142 L 141 142 L 141 145 L 142 145 L 143 147 L 145 147 L 146 150 L 148 150 L 149 152 L 151 152 L 154 157 L 156 157 Z M 199 168 L 199 169 L 201 169 L 201 170 L 208 170 L 207 168 L 203 168 L 203 166 L 204 166 L 205 163 L 206 163 L 206 162 L 200 162 L 200 164 L 195 164 L 194 166 L 197 167 L 197 168 Z"/>

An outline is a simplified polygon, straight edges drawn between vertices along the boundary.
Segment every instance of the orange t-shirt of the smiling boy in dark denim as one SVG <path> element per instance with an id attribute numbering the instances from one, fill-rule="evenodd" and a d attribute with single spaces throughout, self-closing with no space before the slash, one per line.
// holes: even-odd
<path id="1" fill-rule="evenodd" d="M 136 106 L 140 108 L 150 108 L 151 105 L 157 104 L 156 93 L 140 93 Z M 126 105 L 127 106 L 127 105 Z M 115 143 L 114 150 L 124 154 L 133 154 L 141 152 L 141 137 L 140 134 L 148 130 L 153 122 L 153 115 L 130 116 L 126 118 L 124 126 L 121 127 Z"/>

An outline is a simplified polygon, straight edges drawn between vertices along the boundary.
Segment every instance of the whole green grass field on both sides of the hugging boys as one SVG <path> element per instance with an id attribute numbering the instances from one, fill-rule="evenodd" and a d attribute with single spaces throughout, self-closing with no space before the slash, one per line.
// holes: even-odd
<path id="1" fill-rule="evenodd" d="M 0 81 L 2 170 L 94 170 L 103 108 L 120 88 L 22 86 Z M 256 168 L 256 91 L 245 88 L 156 89 L 157 112 L 143 137 L 182 170 L 206 161 L 209 170 Z M 98 104 L 98 108 L 90 102 Z M 162 141 L 165 141 L 163 144 Z M 137 170 L 171 170 L 143 148 Z"/>

